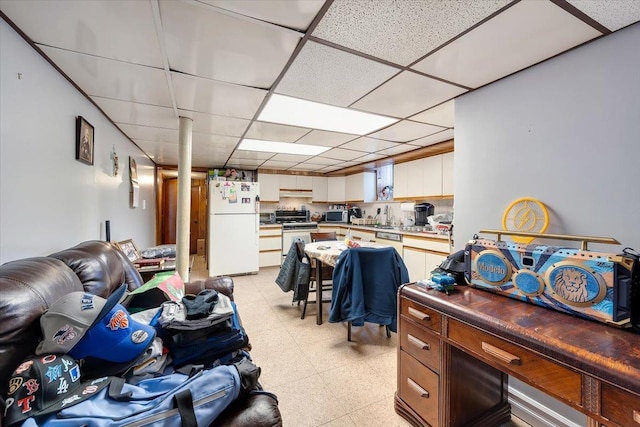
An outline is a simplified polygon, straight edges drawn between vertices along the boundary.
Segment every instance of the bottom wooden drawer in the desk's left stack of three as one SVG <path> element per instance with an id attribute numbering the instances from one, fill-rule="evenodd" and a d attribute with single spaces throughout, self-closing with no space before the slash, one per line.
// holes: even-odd
<path id="1" fill-rule="evenodd" d="M 399 395 L 432 427 L 438 424 L 438 375 L 400 351 Z"/>

